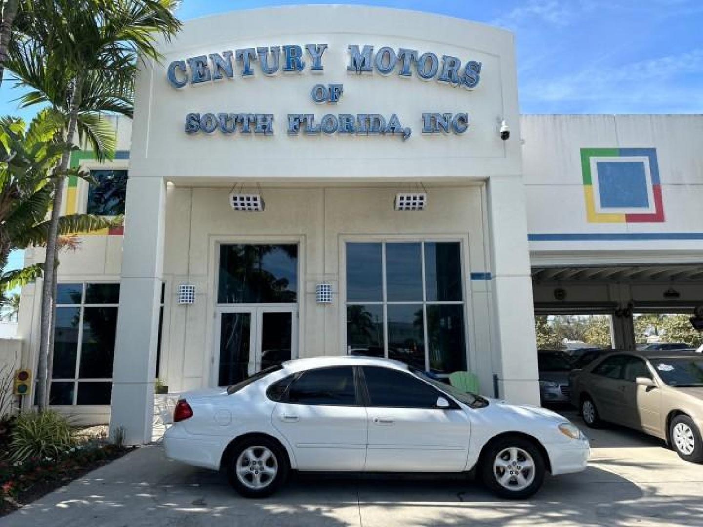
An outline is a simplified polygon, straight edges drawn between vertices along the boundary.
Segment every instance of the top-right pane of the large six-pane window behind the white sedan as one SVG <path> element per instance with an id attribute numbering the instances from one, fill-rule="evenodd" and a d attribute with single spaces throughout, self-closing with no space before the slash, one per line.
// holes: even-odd
<path id="1" fill-rule="evenodd" d="M 459 242 L 425 243 L 427 301 L 463 299 Z"/>

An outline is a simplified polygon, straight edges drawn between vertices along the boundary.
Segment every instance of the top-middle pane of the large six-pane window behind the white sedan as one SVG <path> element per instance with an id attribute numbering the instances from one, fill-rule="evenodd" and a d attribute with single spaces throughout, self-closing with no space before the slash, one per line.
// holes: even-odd
<path id="1" fill-rule="evenodd" d="M 423 264 L 420 243 L 386 244 L 386 299 L 423 300 Z"/>

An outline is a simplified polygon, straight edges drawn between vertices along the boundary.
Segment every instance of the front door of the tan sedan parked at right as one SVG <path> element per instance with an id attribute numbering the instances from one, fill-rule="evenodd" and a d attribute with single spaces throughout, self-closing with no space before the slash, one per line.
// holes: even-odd
<path id="1" fill-rule="evenodd" d="M 628 356 L 624 365 L 624 421 L 628 427 L 647 431 L 653 434 L 661 432 L 661 391 L 657 388 L 647 388 L 637 384 L 637 377 L 652 379 L 652 372 L 645 360 L 636 356 Z"/>

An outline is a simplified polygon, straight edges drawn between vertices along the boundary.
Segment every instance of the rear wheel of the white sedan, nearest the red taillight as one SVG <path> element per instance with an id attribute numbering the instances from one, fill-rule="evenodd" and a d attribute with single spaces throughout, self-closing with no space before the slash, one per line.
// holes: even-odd
<path id="1" fill-rule="evenodd" d="M 241 478 L 238 474 L 239 464 L 245 471 Z M 254 436 L 245 438 L 229 450 L 226 468 L 230 485 L 240 495 L 267 497 L 275 493 L 285 482 L 290 471 L 290 462 L 288 454 L 278 441 L 264 436 Z M 257 482 L 260 485 L 258 488 Z"/>

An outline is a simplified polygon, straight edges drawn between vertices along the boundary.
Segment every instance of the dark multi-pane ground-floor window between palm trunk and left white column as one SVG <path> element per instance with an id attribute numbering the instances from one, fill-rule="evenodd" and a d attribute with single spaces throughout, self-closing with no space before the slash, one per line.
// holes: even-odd
<path id="1" fill-rule="evenodd" d="M 108 405 L 120 284 L 68 283 L 57 289 L 49 403 Z"/>

